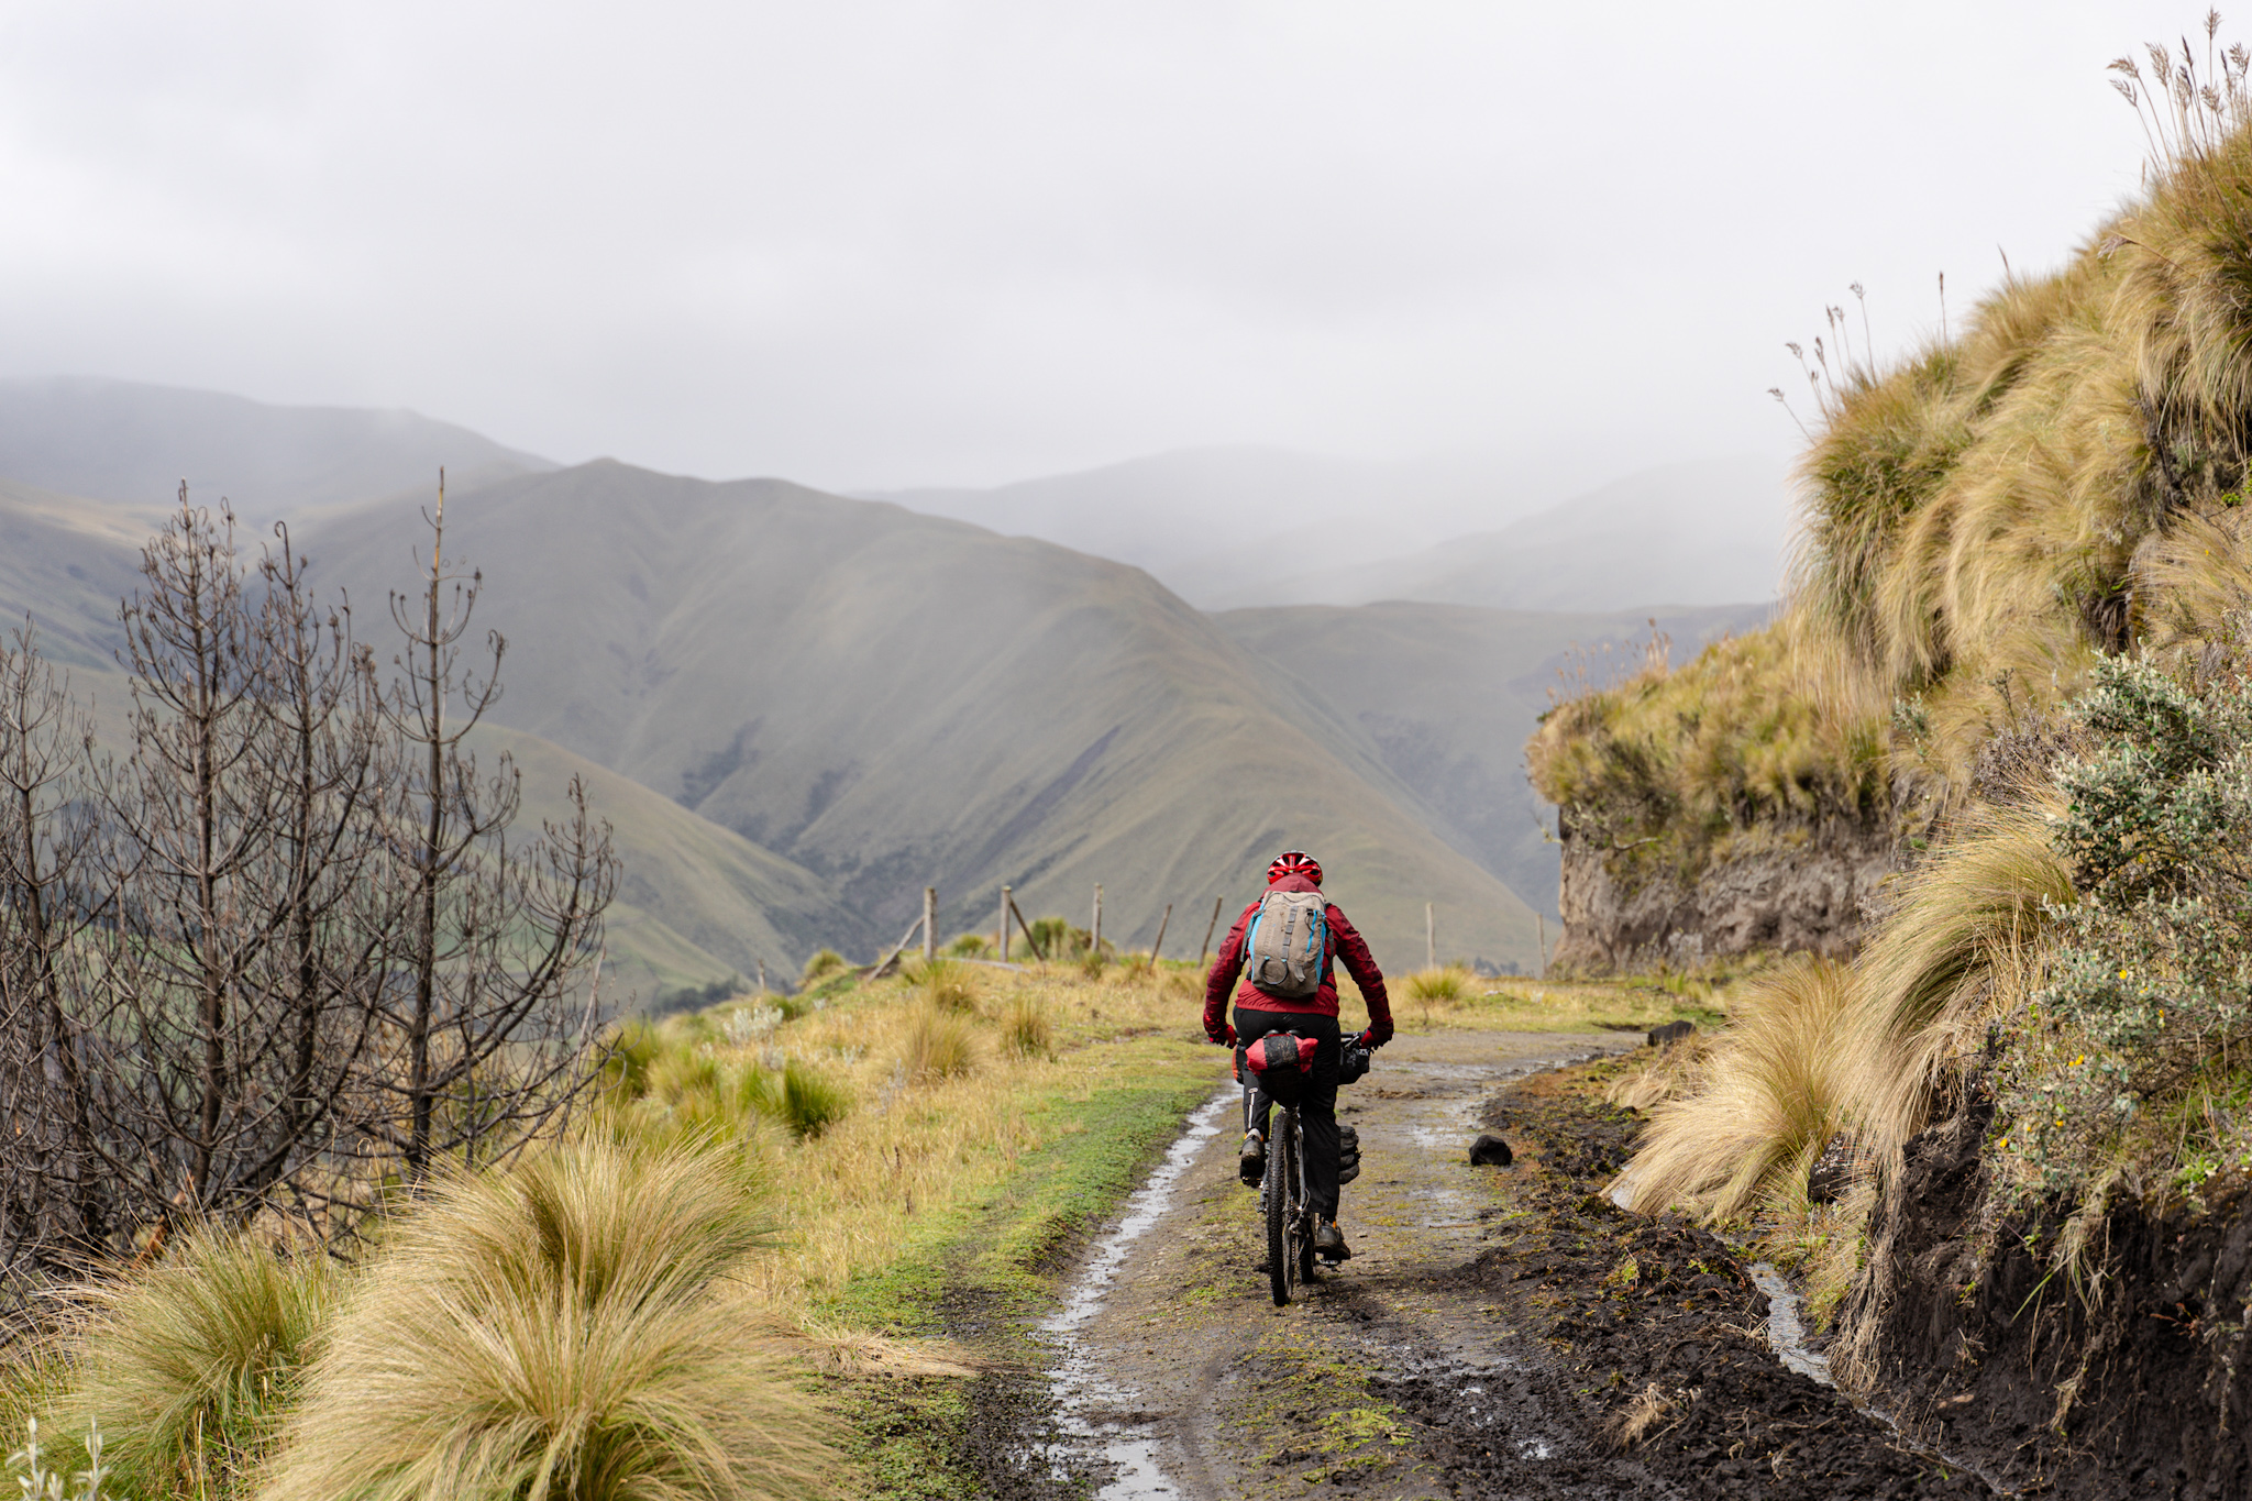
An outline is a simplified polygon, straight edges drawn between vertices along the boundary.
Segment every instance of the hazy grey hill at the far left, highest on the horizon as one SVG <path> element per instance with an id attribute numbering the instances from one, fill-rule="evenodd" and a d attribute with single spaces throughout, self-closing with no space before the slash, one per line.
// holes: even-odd
<path id="1" fill-rule="evenodd" d="M 554 468 L 547 459 L 414 412 L 277 407 L 218 392 L 56 376 L 0 380 L 0 475 L 128 506 L 189 495 L 243 518 L 426 493 L 446 466 L 462 488 Z"/>

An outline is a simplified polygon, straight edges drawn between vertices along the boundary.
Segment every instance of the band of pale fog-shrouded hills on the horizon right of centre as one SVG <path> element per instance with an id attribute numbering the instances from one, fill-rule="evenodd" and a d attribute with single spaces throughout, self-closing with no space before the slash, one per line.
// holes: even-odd
<path id="1" fill-rule="evenodd" d="M 1781 464 L 1750 455 L 1585 488 L 1471 459 L 1214 448 L 881 500 L 1133 563 L 1200 610 L 1378 599 L 1633 610 L 1775 599 L 1786 493 Z"/>

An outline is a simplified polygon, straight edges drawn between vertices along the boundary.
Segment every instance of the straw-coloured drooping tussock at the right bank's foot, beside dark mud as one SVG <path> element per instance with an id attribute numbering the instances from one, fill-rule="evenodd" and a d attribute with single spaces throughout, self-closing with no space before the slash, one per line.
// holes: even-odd
<path id="1" fill-rule="evenodd" d="M 1703 1087 L 1651 1112 L 1630 1177 L 1644 1213 L 1694 1204 L 1718 1222 L 1761 1199 L 1804 1199 L 1806 1170 L 1847 1123 L 1844 965 L 1788 959 L 1745 981 L 1732 1017 L 1712 1040 Z"/>

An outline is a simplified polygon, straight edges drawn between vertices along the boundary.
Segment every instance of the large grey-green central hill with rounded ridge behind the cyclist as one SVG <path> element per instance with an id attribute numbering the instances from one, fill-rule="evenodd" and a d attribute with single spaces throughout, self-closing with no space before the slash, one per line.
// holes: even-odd
<path id="1" fill-rule="evenodd" d="M 1369 740 L 1146 574 L 775 479 L 624 464 L 448 504 L 511 646 L 498 716 L 786 855 L 842 898 L 863 952 L 923 884 L 944 925 L 1029 914 L 1200 936 L 1281 844 L 1320 848 L 1385 963 L 1439 900 L 1464 954 L 1534 963 L 1531 909 L 1428 828 Z M 354 599 L 412 578 L 414 509 L 327 520 Z M 1178 950 L 1176 950 L 1178 952 Z"/>

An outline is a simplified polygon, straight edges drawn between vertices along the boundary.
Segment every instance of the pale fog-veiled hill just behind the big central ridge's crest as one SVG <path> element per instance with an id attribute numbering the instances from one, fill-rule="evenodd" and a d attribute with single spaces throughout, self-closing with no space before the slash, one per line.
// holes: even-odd
<path id="1" fill-rule="evenodd" d="M 984 491 L 887 491 L 867 500 L 1131 563 L 1209 608 L 1234 601 L 1245 576 L 1389 558 L 1466 527 L 1498 527 L 1556 493 L 1477 459 L 1198 448 Z"/>

